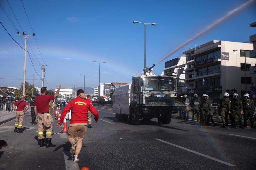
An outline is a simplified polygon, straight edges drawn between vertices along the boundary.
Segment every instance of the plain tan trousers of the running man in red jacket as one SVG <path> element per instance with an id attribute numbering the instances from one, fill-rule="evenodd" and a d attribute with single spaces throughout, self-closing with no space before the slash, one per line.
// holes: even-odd
<path id="1" fill-rule="evenodd" d="M 68 128 L 68 141 L 71 144 L 73 144 L 75 141 L 77 142 L 75 155 L 78 155 L 81 151 L 82 141 L 86 131 L 87 131 L 86 125 L 70 126 Z"/>

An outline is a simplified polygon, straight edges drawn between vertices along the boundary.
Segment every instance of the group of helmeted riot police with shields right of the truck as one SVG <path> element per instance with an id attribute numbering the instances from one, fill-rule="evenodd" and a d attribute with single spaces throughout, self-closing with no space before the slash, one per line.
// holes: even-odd
<path id="1" fill-rule="evenodd" d="M 183 96 L 181 96 L 183 97 Z M 185 98 L 185 106 L 180 107 L 180 118 L 188 119 L 189 111 L 191 110 L 191 106 L 193 114 L 191 121 L 194 121 L 194 117 L 196 115 L 197 122 L 200 122 L 201 126 L 210 126 L 210 121 L 214 123 L 213 113 L 214 108 L 212 104 L 212 100 L 209 100 L 209 96 L 207 94 L 202 95 L 202 99 L 200 100 L 198 95 L 195 93 L 193 97 L 193 101 L 190 102 L 187 95 L 184 95 Z M 191 105 L 190 105 L 191 104 Z M 243 95 L 242 101 L 239 100 L 239 95 L 234 93 L 233 96 L 229 99 L 229 94 L 225 92 L 223 94 L 222 99 L 220 100 L 219 105 L 221 121 L 223 128 L 228 127 L 228 116 L 231 120 L 231 126 L 237 128 L 237 117 L 239 122 L 239 128 L 244 129 L 247 128 L 248 119 L 251 122 L 251 128 L 255 129 L 254 126 L 254 115 L 255 115 L 255 106 L 253 101 L 250 99 L 248 93 Z M 199 120 L 200 115 L 200 120 Z M 244 124 L 243 124 L 244 118 Z"/>

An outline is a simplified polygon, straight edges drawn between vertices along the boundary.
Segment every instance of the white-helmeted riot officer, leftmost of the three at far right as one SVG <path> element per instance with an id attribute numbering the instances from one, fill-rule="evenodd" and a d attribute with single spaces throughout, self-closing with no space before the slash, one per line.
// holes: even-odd
<path id="1" fill-rule="evenodd" d="M 230 107 L 231 107 L 231 102 L 228 97 L 229 97 L 229 94 L 225 92 L 223 94 L 223 98 L 220 101 L 221 120 L 222 120 L 223 128 L 228 127 L 228 114 L 230 114 Z"/>

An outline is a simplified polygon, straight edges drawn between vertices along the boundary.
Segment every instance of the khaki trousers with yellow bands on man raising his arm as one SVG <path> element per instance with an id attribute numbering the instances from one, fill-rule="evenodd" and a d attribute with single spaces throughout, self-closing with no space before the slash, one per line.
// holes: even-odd
<path id="1" fill-rule="evenodd" d="M 38 126 L 38 139 L 44 139 L 44 130 L 46 131 L 46 138 L 52 138 L 52 124 L 51 127 L 44 126 L 44 114 L 38 113 L 36 116 Z"/>

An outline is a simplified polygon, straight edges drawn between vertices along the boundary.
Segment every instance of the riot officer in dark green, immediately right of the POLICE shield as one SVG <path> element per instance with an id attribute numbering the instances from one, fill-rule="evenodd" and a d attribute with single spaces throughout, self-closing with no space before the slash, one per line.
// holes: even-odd
<path id="1" fill-rule="evenodd" d="M 203 100 L 200 100 L 199 102 L 199 108 L 200 108 L 200 125 L 203 125 L 203 122 L 205 125 L 207 124 L 210 126 L 210 109 L 211 105 L 210 102 L 207 101 L 207 94 L 203 94 Z"/>

